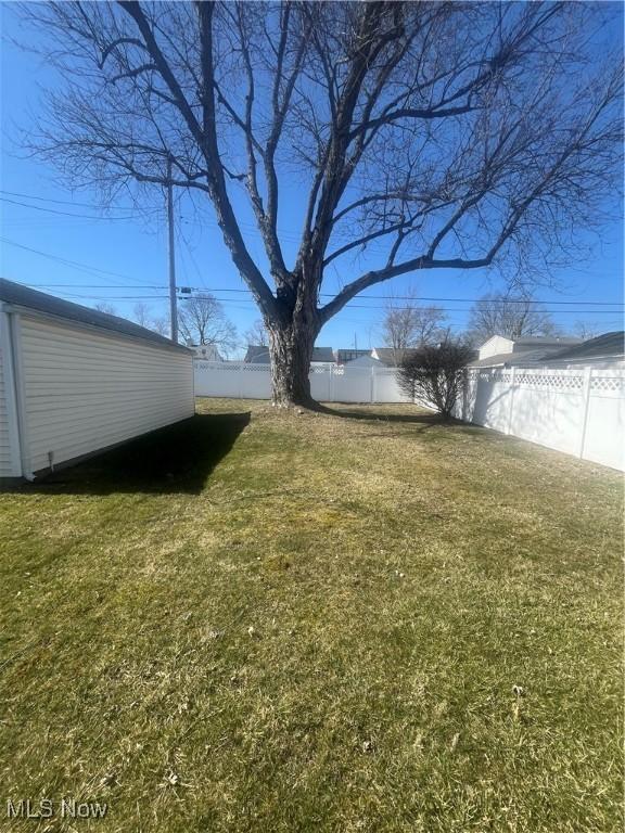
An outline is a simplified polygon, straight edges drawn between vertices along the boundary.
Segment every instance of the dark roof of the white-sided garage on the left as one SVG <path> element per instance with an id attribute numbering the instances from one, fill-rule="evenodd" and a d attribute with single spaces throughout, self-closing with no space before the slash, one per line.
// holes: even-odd
<path id="1" fill-rule="evenodd" d="M 101 330 L 129 335 L 132 338 L 140 338 L 143 342 L 160 344 L 162 347 L 189 353 L 188 348 L 181 344 L 176 344 L 170 338 L 158 335 L 158 333 L 136 324 L 133 321 L 111 316 L 107 312 L 100 312 L 100 310 L 90 307 L 82 307 L 80 304 L 73 304 L 69 300 L 31 290 L 29 286 L 8 281 L 4 278 L 0 278 L 0 300 L 56 318 L 64 318 L 67 321 L 97 326 Z"/>

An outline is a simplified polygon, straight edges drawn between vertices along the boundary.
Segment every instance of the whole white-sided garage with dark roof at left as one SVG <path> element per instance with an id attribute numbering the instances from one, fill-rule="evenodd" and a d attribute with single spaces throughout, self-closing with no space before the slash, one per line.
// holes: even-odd
<path id="1" fill-rule="evenodd" d="M 194 411 L 187 347 L 0 280 L 0 479 L 30 479 Z"/>

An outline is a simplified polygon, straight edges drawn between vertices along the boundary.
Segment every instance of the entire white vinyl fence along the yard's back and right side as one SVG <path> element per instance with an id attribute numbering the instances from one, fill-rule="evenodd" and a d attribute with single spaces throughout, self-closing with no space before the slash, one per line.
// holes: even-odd
<path id="1" fill-rule="evenodd" d="M 194 361 L 195 395 L 269 399 L 268 364 Z M 323 402 L 407 402 L 395 368 L 319 364 L 310 392 Z M 625 470 L 625 370 L 467 370 L 455 416 Z"/>

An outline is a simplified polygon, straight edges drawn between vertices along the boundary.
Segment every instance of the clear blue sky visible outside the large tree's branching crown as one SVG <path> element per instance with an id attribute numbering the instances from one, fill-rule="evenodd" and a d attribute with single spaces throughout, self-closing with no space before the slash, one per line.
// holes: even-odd
<path id="1" fill-rule="evenodd" d="M 129 203 L 120 202 L 111 208 L 111 217 L 104 218 L 92 207 L 98 203 L 93 191 L 72 193 L 59 181 L 51 163 L 24 152 L 18 128 L 28 128 L 31 124 L 40 102 L 39 86 L 49 86 L 53 79 L 40 59 L 20 51 L 8 40 L 20 36 L 11 4 L 0 4 L 0 15 L 3 34 L 0 274 L 87 306 L 106 300 L 118 315 L 128 317 L 135 304 L 143 299 L 154 315 L 165 316 L 164 195 L 154 190 L 150 213 L 141 215 Z M 301 227 L 295 189 L 283 194 L 282 206 L 279 228 L 289 254 Z M 177 201 L 176 214 L 178 284 L 214 292 L 242 333 L 258 313 L 222 243 L 212 206 L 208 201 L 193 206 L 181 197 Z M 244 232 L 252 254 L 260 257 L 262 244 L 248 216 Z M 622 221 L 615 218 L 605 225 L 599 239 L 579 230 L 579 241 L 591 247 L 588 259 L 572 261 L 557 271 L 560 289 L 538 287 L 536 296 L 545 300 L 563 330 L 571 329 L 576 321 L 584 321 L 598 331 L 621 328 L 621 307 L 595 306 L 590 302 L 623 303 Z M 367 258 L 361 257 L 354 264 L 354 273 L 367 265 Z M 331 292 L 335 286 L 335 277 L 328 275 L 324 291 Z M 499 289 L 497 275 L 486 270 L 405 275 L 356 298 L 326 325 L 318 344 L 334 348 L 354 346 L 355 342 L 358 347 L 375 346 L 381 341 L 380 321 L 386 303 L 381 296 L 391 292 L 400 296 L 410 287 L 423 298 L 442 299 L 432 303 L 446 309 L 447 323 L 455 330 L 465 325 L 471 299 Z"/>

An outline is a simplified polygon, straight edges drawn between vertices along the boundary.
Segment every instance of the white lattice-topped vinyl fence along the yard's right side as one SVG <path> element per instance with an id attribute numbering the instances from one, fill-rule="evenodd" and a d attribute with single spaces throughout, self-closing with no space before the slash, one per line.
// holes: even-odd
<path id="1" fill-rule="evenodd" d="M 625 370 L 468 370 L 455 415 L 625 470 Z"/>

